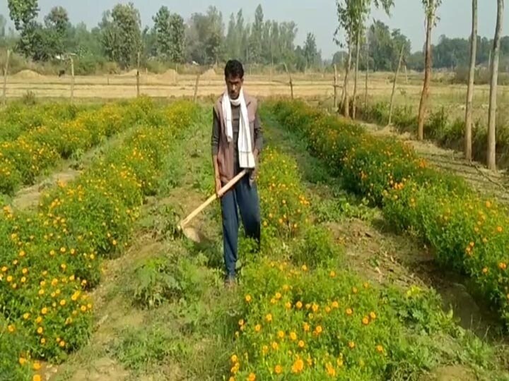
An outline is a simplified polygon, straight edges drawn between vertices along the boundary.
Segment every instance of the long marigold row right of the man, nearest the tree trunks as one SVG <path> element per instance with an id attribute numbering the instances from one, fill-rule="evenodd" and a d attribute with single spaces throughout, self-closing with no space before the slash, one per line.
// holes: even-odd
<path id="1" fill-rule="evenodd" d="M 383 207 L 387 219 L 431 243 L 437 260 L 472 277 L 509 323 L 509 217 L 505 207 L 469 189 L 458 176 L 428 168 L 411 147 L 369 135 L 301 102 L 266 106 L 307 138 L 315 155 L 351 191 Z"/>

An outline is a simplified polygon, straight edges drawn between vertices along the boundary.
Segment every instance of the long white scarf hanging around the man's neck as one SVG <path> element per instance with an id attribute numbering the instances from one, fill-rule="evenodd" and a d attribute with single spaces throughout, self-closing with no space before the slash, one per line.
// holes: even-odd
<path id="1" fill-rule="evenodd" d="M 232 112 L 231 105 L 240 106 L 238 155 L 240 168 L 254 168 L 254 155 L 252 153 L 251 132 L 247 105 L 244 99 L 244 92 L 240 89 L 237 99 L 230 99 L 228 91 L 223 94 L 223 117 L 226 126 L 226 138 L 228 143 L 233 140 Z"/>

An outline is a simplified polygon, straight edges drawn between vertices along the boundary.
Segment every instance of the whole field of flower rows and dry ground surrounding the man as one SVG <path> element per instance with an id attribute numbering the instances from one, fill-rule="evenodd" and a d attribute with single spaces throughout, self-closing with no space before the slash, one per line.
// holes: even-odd
<path id="1" fill-rule="evenodd" d="M 77 78 L 76 104 L 40 101 L 69 78 L 9 79 L 35 104 L 0 111 L 0 380 L 509 380 L 503 175 L 415 143 L 410 124 L 330 115 L 330 78 L 295 75 L 305 103 L 272 98 L 285 75 L 252 75 L 262 249 L 241 238 L 225 289 L 218 204 L 193 222 L 200 243 L 177 229 L 213 190 L 223 83 L 204 75 L 194 104 L 172 98 L 196 77 L 170 74 L 142 75 L 157 100 L 131 99 L 132 73 Z M 390 75 L 368 86 L 376 123 Z M 413 112 L 419 78 L 398 89 Z M 431 108 L 461 116 L 462 91 L 436 84 Z"/>

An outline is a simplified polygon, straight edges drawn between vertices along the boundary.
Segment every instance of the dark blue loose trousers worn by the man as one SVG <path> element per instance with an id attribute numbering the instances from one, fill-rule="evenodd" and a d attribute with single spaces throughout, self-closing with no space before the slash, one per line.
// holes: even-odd
<path id="1" fill-rule="evenodd" d="M 226 274 L 230 279 L 235 278 L 235 265 L 238 259 L 238 211 L 246 236 L 257 241 L 259 246 L 261 217 L 258 191 L 256 183 L 250 184 L 249 176 L 244 176 L 221 198 L 224 260 Z"/>

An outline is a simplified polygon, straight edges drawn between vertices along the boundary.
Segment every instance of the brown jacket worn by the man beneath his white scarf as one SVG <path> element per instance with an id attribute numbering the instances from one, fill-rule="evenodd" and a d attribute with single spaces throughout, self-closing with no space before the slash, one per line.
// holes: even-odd
<path id="1" fill-rule="evenodd" d="M 263 138 L 262 126 L 259 122 L 258 116 L 258 102 L 257 99 L 247 95 L 246 92 L 244 92 L 244 98 L 247 106 L 247 116 L 250 124 L 252 150 L 254 152 L 254 150 L 257 149 L 259 153 L 262 150 Z M 234 157 L 235 145 L 237 142 L 228 143 L 228 139 L 226 138 L 226 126 L 223 116 L 222 96 L 219 97 L 216 104 L 214 105 L 213 111 L 215 113 L 215 123 L 218 123 L 219 133 L 216 139 L 214 138 L 214 135 L 212 136 L 212 155 L 217 155 L 219 176 L 221 177 L 221 181 L 223 183 L 227 183 L 233 179 L 233 177 L 235 177 Z M 258 165 L 258 158 L 255 157 L 255 159 Z"/>

